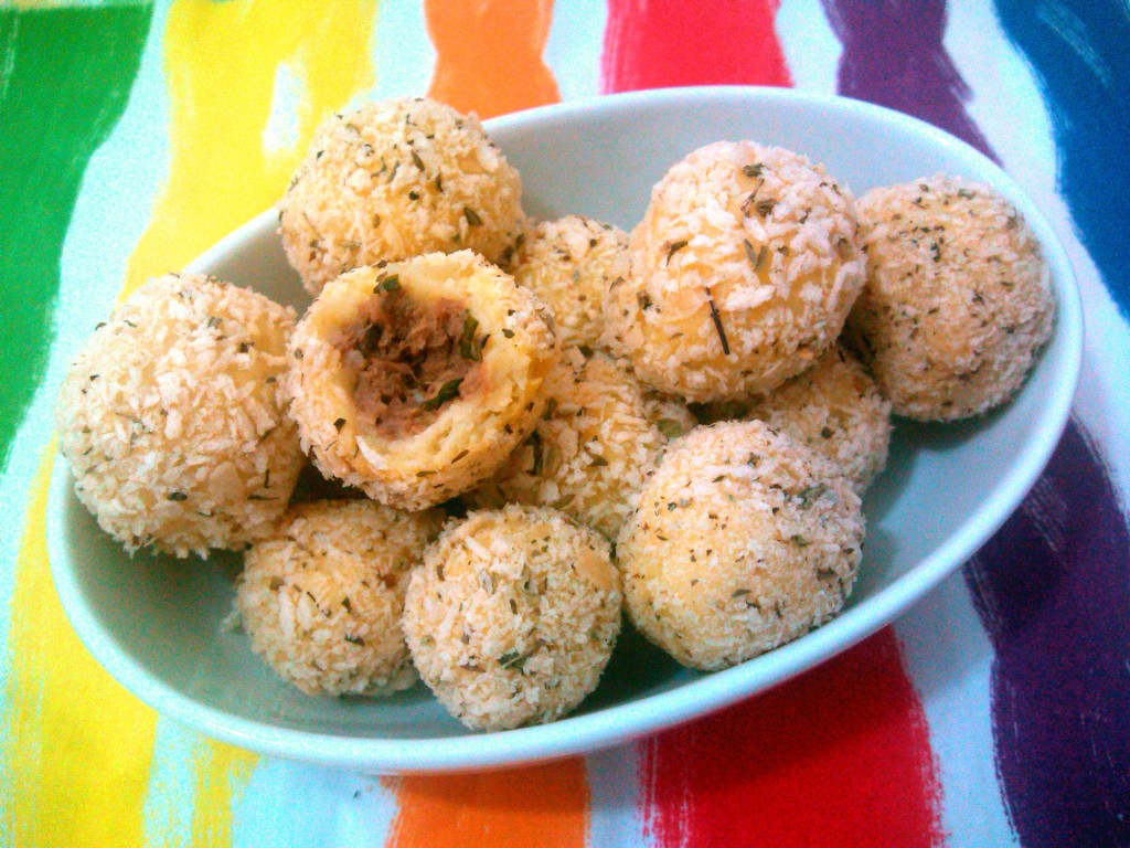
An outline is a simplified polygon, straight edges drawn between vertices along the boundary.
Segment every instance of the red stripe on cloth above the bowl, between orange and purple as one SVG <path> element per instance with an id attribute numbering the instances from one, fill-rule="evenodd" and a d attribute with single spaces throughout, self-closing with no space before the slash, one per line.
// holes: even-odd
<path id="1" fill-rule="evenodd" d="M 776 0 L 608 0 L 601 88 L 792 85 L 776 9 Z"/>

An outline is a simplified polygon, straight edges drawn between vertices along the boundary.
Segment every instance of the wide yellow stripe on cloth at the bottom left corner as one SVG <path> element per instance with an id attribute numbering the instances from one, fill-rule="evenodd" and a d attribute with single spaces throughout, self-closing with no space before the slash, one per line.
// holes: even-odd
<path id="1" fill-rule="evenodd" d="M 16 559 L 8 822 L 17 846 L 141 845 L 157 715 L 99 666 L 67 621 L 47 568 L 44 451 Z M 7 791 L 6 790 L 6 791 Z"/>

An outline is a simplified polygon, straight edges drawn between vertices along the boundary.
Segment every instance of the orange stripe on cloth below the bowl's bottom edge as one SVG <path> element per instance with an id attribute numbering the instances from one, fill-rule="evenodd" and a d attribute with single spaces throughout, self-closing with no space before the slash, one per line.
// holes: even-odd
<path id="1" fill-rule="evenodd" d="M 400 805 L 385 848 L 581 848 L 589 831 L 584 760 L 390 781 Z"/>

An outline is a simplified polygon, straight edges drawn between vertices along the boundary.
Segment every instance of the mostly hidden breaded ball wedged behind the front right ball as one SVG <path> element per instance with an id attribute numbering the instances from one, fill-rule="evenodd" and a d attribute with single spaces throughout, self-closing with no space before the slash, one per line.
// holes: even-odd
<path id="1" fill-rule="evenodd" d="M 887 465 L 890 401 L 843 345 L 768 395 L 718 407 L 707 410 L 713 421 L 757 418 L 824 455 L 860 496 Z"/>

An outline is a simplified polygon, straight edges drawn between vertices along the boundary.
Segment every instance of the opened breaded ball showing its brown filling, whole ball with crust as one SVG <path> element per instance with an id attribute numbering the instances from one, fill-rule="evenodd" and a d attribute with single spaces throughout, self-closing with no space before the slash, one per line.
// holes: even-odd
<path id="1" fill-rule="evenodd" d="M 471 488 L 545 408 L 560 354 L 542 309 L 469 250 L 342 275 L 289 346 L 303 449 L 323 475 L 401 509 Z"/>

